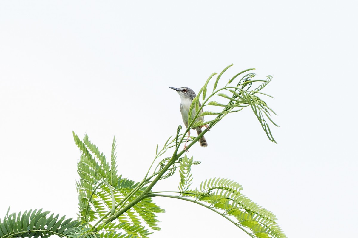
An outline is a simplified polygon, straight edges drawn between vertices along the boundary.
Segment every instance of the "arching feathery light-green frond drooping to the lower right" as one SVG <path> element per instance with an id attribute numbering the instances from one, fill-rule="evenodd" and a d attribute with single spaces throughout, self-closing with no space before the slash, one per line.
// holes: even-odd
<path id="1" fill-rule="evenodd" d="M 248 233 L 253 237 L 286 237 L 275 221 L 276 216 L 245 197 L 241 190 L 241 185 L 232 180 L 212 178 L 202 182 L 199 189 L 186 191 L 182 196 L 193 197 L 194 202 L 221 211 L 219 214 L 236 226 L 250 229 Z"/>

